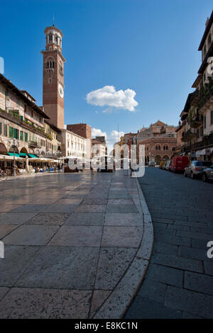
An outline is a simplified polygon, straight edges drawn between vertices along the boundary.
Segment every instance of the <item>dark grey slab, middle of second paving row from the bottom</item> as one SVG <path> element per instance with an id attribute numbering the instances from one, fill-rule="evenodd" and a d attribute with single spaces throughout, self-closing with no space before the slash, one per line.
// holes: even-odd
<path id="1" fill-rule="evenodd" d="M 98 247 L 44 247 L 15 286 L 90 290 L 98 255 Z"/>

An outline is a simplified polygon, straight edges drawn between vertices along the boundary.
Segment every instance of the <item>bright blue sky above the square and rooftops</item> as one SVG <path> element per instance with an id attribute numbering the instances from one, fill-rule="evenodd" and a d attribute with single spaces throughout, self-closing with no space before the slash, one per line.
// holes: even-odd
<path id="1" fill-rule="evenodd" d="M 177 125 L 200 67 L 197 48 L 211 12 L 212 0 L 1 1 L 4 74 L 42 105 L 40 50 L 55 16 L 64 35 L 66 124 L 89 123 L 109 140 L 118 125 L 124 132 L 158 119 Z M 97 92 L 105 86 L 114 86 L 108 99 Z"/>

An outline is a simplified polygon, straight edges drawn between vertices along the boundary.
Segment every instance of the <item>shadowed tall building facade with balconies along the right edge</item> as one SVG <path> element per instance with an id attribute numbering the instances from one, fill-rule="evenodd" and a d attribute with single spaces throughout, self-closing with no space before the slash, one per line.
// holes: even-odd
<path id="1" fill-rule="evenodd" d="M 180 152 L 192 159 L 213 162 L 213 11 L 207 18 L 199 49 L 202 64 L 185 107 L 180 114 Z"/>

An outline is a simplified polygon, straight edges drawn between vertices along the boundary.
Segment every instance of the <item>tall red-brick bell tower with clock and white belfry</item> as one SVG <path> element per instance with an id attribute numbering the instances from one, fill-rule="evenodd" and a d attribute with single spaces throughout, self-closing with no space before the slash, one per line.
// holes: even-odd
<path id="1" fill-rule="evenodd" d="M 50 122 L 64 128 L 64 62 L 62 32 L 55 25 L 45 28 L 43 54 L 43 108 Z"/>

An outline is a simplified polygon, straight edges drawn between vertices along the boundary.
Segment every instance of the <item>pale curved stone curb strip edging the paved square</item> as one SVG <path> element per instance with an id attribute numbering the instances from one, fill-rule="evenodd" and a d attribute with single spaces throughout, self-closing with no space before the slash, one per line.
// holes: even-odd
<path id="1" fill-rule="evenodd" d="M 102 307 L 94 315 L 93 319 L 120 319 L 123 318 L 131 302 L 140 288 L 148 269 L 148 264 L 153 251 L 153 222 L 146 205 L 146 200 L 141 191 L 141 186 L 136 179 L 141 210 L 143 213 L 143 236 L 141 245 L 136 252 L 131 266 L 126 271 L 119 284 L 109 295 Z"/>

